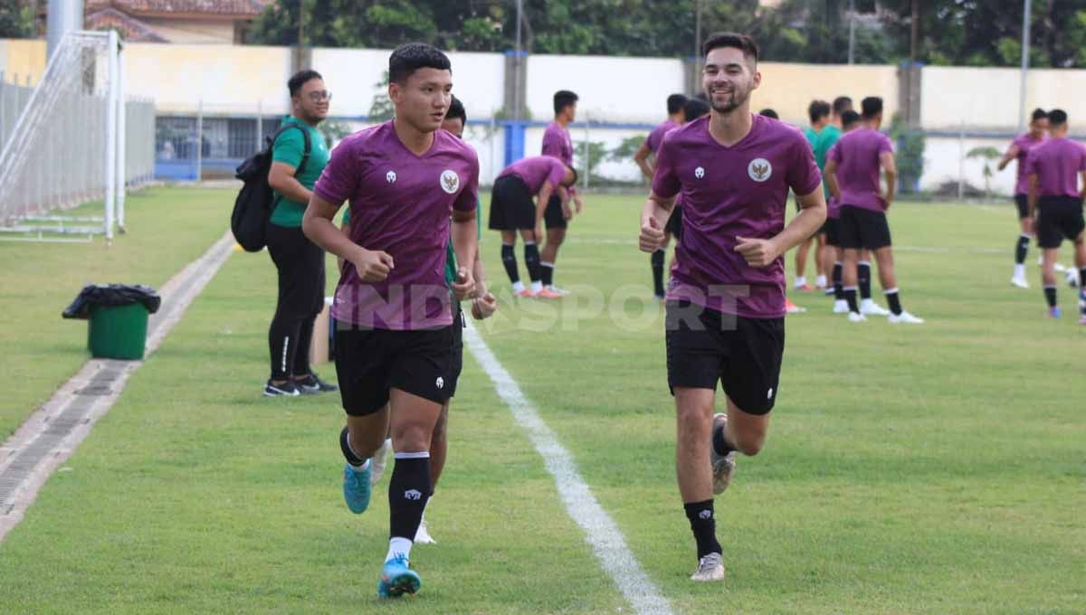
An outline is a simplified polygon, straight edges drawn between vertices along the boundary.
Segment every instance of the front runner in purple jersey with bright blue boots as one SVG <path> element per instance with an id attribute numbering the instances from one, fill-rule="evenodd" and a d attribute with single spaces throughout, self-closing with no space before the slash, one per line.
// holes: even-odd
<path id="1" fill-rule="evenodd" d="M 352 512 L 369 505 L 369 458 L 390 425 L 396 451 L 379 597 L 414 593 L 421 585 L 408 561 L 430 494 L 430 443 L 453 373 L 456 324 L 442 276 L 450 238 L 459 266 L 452 290 L 457 299 L 475 292 L 479 159 L 440 130 L 452 86 L 449 57 L 438 49 L 409 43 L 393 51 L 395 118 L 340 143 L 303 220 L 307 236 L 350 264 L 332 316 L 346 411 L 343 497 Z M 332 222 L 344 201 L 350 238 Z"/>

